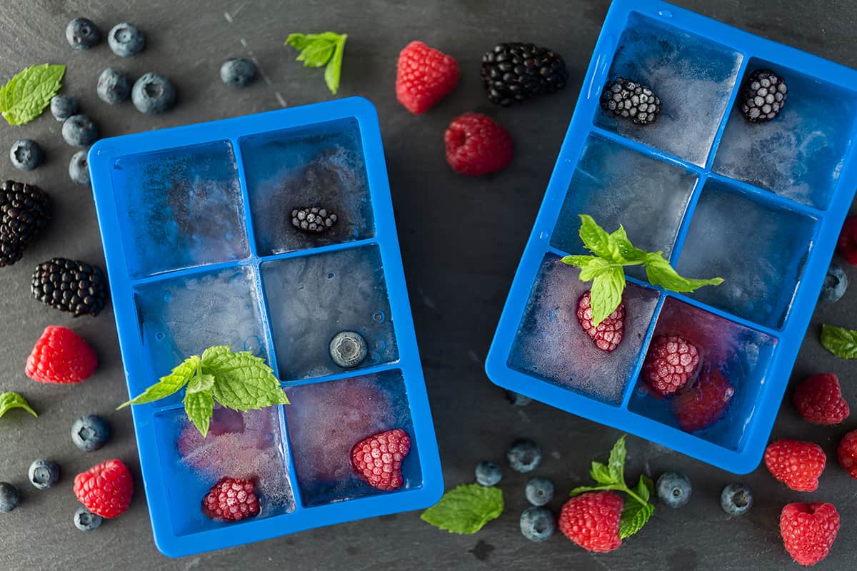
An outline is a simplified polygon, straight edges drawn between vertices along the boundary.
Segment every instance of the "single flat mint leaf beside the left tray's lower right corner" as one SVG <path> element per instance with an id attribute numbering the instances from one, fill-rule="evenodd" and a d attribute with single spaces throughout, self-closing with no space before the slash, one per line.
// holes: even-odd
<path id="1" fill-rule="evenodd" d="M 447 491 L 420 519 L 451 533 L 476 533 L 503 513 L 503 492 L 494 486 L 463 484 Z"/>

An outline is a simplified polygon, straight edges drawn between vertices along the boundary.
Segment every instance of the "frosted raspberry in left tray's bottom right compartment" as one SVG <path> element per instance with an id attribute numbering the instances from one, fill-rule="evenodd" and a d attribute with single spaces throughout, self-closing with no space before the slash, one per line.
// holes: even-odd
<path id="1" fill-rule="evenodd" d="M 351 466 L 369 485 L 383 491 L 402 487 L 402 459 L 411 450 L 411 437 L 400 428 L 361 440 L 351 449 Z"/>

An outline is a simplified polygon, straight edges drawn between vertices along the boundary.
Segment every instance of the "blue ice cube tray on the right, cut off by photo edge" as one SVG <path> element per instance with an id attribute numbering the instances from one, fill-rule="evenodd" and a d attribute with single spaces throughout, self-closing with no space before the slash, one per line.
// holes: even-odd
<path id="1" fill-rule="evenodd" d="M 740 116 L 745 74 L 788 83 L 773 121 Z M 608 116 L 616 76 L 648 84 L 662 115 L 646 127 Z M 536 224 L 488 353 L 495 384 L 628 431 L 732 473 L 758 466 L 857 187 L 857 72 L 662 2 L 614 0 Z M 588 213 L 721 286 L 675 294 L 628 271 L 619 348 L 594 347 L 576 318 L 590 286 L 563 265 L 587 253 Z M 733 392 L 707 428 L 656 399 L 641 371 L 653 336 L 700 347 L 697 374 Z M 689 381 L 688 388 L 703 386 Z M 678 410 L 676 408 L 675 410 Z"/>

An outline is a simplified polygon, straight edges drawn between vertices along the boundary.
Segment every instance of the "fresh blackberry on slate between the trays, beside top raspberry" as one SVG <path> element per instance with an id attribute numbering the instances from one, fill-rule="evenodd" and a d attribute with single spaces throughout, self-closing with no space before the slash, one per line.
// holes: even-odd
<path id="1" fill-rule="evenodd" d="M 492 103 L 507 107 L 566 86 L 562 57 L 532 44 L 498 44 L 482 56 L 482 81 Z"/>

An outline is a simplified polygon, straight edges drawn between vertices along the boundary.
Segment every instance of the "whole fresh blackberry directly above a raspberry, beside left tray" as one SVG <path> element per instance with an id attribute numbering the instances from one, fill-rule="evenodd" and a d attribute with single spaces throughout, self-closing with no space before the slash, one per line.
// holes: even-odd
<path id="1" fill-rule="evenodd" d="M 96 315 L 107 298 L 105 272 L 97 265 L 75 259 L 54 258 L 33 271 L 33 297 L 75 317 Z"/>

